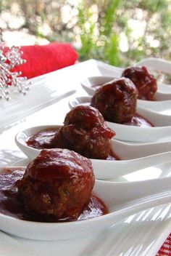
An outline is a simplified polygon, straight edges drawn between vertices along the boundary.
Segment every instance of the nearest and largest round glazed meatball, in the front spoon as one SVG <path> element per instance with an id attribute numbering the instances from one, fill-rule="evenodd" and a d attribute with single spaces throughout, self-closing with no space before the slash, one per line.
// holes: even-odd
<path id="1" fill-rule="evenodd" d="M 28 164 L 20 183 L 25 209 L 39 220 L 76 220 L 91 197 L 91 161 L 67 149 L 47 149 Z"/>

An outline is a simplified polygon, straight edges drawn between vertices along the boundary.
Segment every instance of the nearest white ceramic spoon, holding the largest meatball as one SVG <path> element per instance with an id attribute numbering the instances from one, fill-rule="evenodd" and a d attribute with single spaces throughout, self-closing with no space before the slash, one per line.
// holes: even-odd
<path id="1" fill-rule="evenodd" d="M 104 201 L 109 214 L 69 223 L 36 223 L 0 214 L 0 230 L 25 239 L 46 241 L 87 236 L 135 212 L 171 202 L 170 184 L 171 177 L 129 183 L 96 180 L 93 193 Z"/>

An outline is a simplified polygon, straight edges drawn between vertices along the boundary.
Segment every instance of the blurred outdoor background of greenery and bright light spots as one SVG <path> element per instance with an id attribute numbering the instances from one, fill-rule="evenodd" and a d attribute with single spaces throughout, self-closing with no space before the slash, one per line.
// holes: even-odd
<path id="1" fill-rule="evenodd" d="M 8 46 L 67 41 L 79 60 L 171 60 L 171 0 L 0 0 Z"/>

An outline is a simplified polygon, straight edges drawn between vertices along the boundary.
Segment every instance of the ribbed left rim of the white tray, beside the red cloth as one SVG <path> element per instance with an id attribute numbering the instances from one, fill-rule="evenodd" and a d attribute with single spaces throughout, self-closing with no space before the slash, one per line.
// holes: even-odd
<path id="1" fill-rule="evenodd" d="M 80 79 L 95 74 L 95 63 L 95 60 L 89 60 L 30 79 L 30 91 L 26 96 L 20 95 L 15 88 L 12 89 L 9 102 L 4 99 L 0 100 L 0 132 L 4 128 L 8 129 L 8 125 L 15 121 L 74 93 L 75 89 L 80 86 Z M 87 72 L 85 72 L 86 69 Z M 96 76 L 102 71 L 102 68 L 100 71 L 98 69 L 96 65 Z"/>

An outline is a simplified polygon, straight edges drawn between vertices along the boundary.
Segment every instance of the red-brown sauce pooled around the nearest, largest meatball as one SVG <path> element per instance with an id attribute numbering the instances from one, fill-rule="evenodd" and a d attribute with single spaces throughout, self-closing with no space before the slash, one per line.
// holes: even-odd
<path id="1" fill-rule="evenodd" d="M 4 169 L 0 174 L 0 212 L 20 220 L 43 221 L 40 217 L 26 212 L 18 188 L 20 180 L 25 172 L 22 168 Z M 78 217 L 78 220 L 85 220 L 92 217 L 99 217 L 108 213 L 108 209 L 101 199 L 92 195 L 88 205 Z M 49 220 L 49 222 L 62 222 L 66 220 Z"/>

